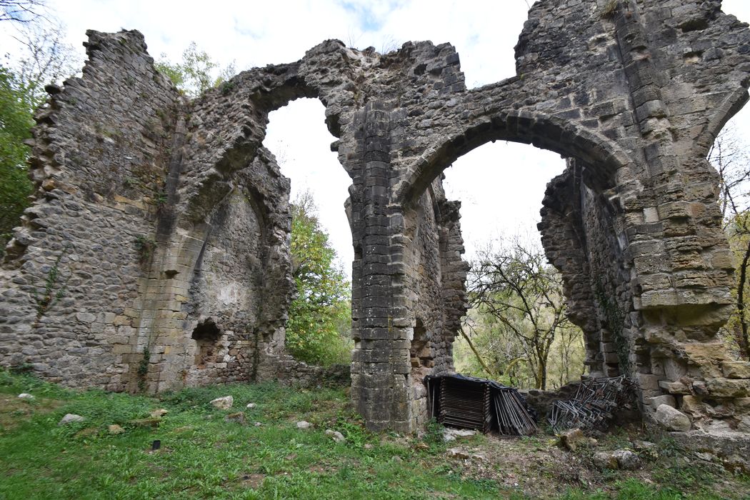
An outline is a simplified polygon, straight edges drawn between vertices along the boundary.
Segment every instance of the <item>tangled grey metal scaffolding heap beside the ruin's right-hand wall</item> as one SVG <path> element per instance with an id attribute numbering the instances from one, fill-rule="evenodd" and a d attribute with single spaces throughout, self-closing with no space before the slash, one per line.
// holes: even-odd
<path id="1" fill-rule="evenodd" d="M 629 408 L 636 385 L 625 376 L 581 382 L 572 400 L 552 403 L 552 429 L 604 430 L 617 409 Z"/>

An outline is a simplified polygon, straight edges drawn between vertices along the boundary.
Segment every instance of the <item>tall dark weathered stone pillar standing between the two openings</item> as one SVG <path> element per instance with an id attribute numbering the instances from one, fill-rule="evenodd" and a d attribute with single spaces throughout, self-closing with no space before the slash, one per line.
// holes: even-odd
<path id="1" fill-rule="evenodd" d="M 352 196 L 352 400 L 372 430 L 407 431 L 410 321 L 398 305 L 403 294 L 392 265 L 399 246 L 391 247 L 391 224 L 398 227 L 398 214 L 389 211 L 389 110 L 375 100 L 357 118 L 362 136 L 356 159 L 360 175 Z"/>

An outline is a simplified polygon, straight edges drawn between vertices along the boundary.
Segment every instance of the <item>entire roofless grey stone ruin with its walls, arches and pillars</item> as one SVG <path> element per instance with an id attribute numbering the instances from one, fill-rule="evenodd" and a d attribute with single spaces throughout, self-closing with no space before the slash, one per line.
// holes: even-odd
<path id="1" fill-rule="evenodd" d="M 539 224 L 592 375 L 626 373 L 714 436 L 750 430 L 750 364 L 715 337 L 732 256 L 706 161 L 748 99 L 750 30 L 720 0 L 541 0 L 517 74 L 467 89 L 448 43 L 327 40 L 186 100 L 138 31 L 89 31 L 83 75 L 37 114 L 37 186 L 0 270 L 0 364 L 73 387 L 351 378 L 374 430 L 416 430 L 466 312 L 441 172 L 497 139 L 568 158 Z M 350 373 L 284 352 L 290 182 L 269 112 L 326 106 L 350 175 Z M 335 370 L 334 370 L 335 371 Z"/>

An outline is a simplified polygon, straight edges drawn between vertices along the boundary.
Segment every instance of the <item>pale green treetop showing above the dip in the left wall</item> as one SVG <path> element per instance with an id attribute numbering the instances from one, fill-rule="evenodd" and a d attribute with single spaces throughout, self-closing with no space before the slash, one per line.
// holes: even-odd
<path id="1" fill-rule="evenodd" d="M 169 62 L 166 60 L 166 54 L 162 54 L 161 60 L 155 66 L 188 97 L 198 97 L 209 88 L 231 78 L 235 73 L 234 62 L 224 68 L 220 67 L 205 50 L 199 50 L 195 42 L 190 42 L 187 49 L 184 49 L 181 62 Z"/>

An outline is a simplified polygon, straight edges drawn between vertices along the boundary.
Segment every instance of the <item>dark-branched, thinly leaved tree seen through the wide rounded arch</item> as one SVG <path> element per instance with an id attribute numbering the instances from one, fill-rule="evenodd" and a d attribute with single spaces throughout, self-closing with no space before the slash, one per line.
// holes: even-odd
<path id="1" fill-rule="evenodd" d="M 475 319 L 469 316 L 467 325 L 484 337 L 478 350 L 511 382 L 523 382 L 518 369 L 525 364 L 534 387 L 546 389 L 553 342 L 562 331 L 577 329 L 565 316 L 562 279 L 541 248 L 514 238 L 499 250 L 482 251 L 472 263 L 468 289 Z M 566 333 L 569 351 L 569 337 L 576 334 Z M 569 367 L 562 370 L 569 374 Z"/>

